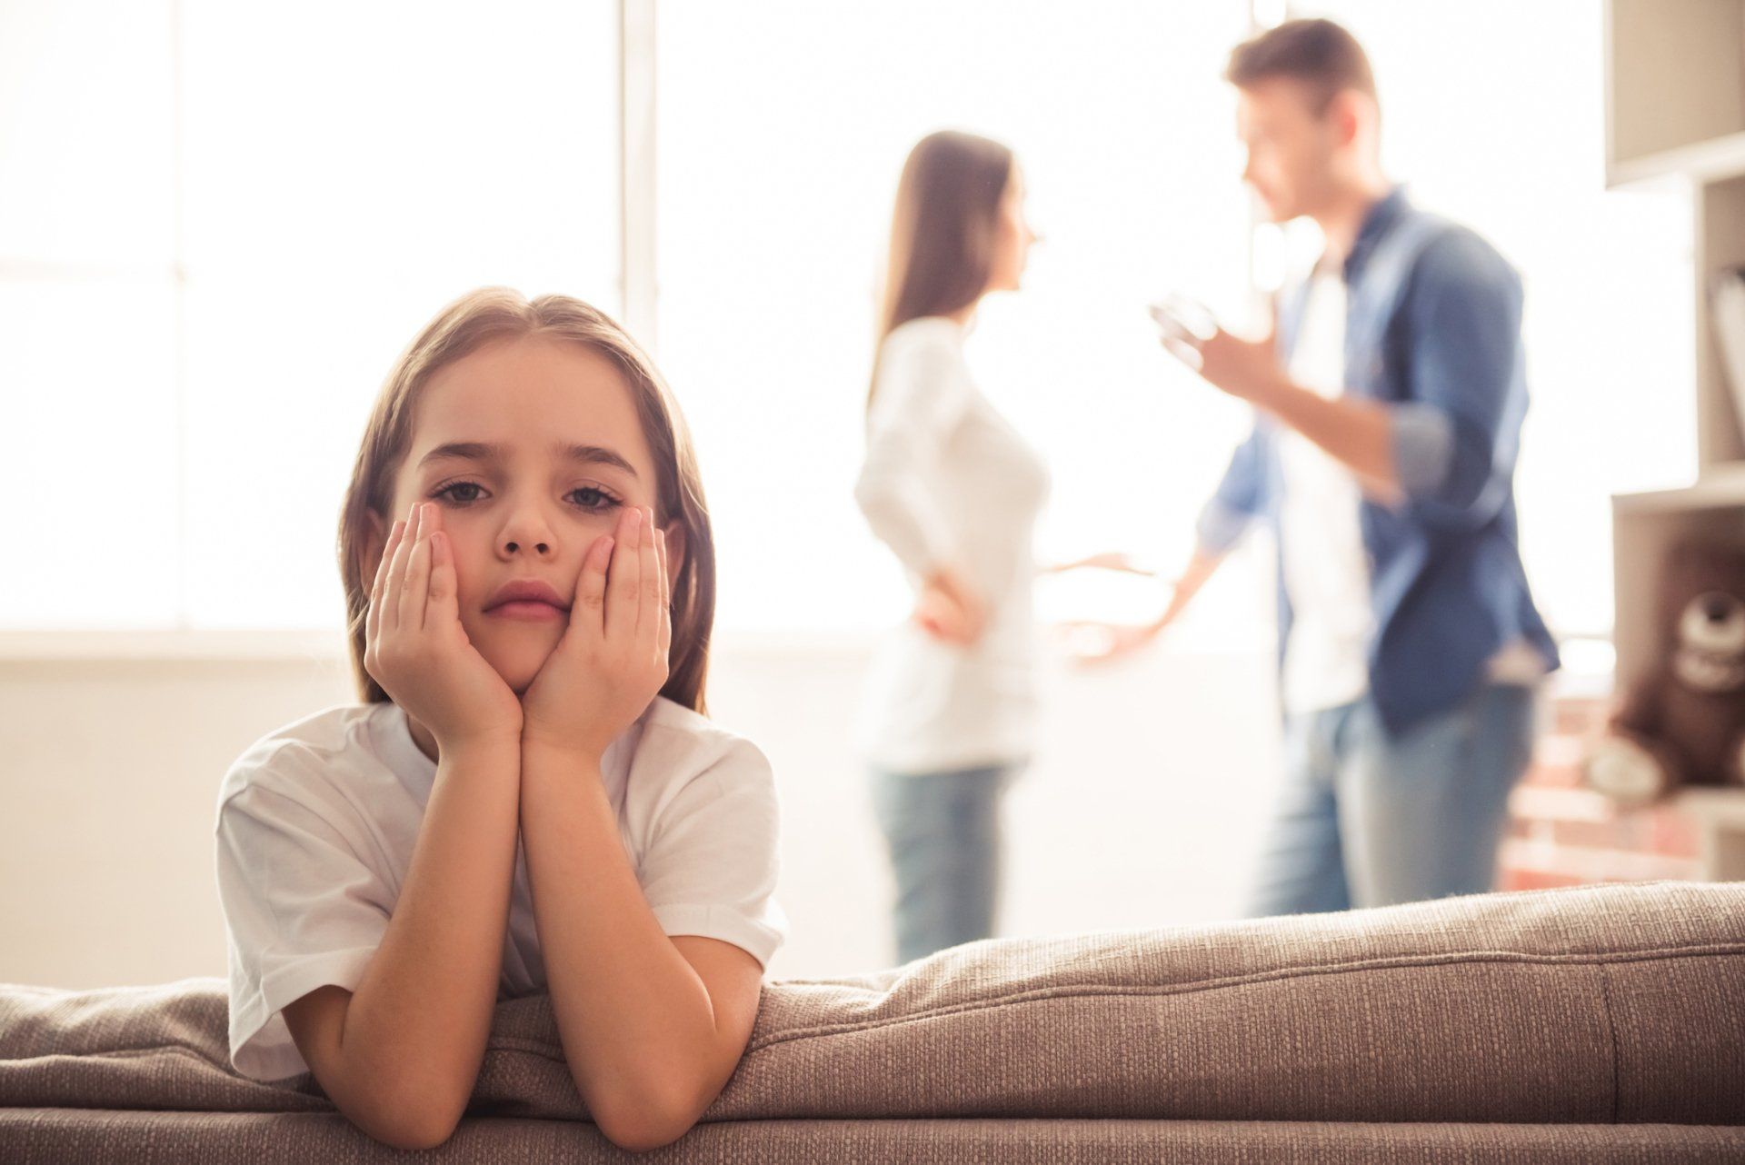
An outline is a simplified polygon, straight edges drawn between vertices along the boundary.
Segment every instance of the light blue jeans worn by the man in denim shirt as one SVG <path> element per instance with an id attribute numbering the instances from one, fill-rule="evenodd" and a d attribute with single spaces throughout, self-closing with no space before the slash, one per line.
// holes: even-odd
<path id="1" fill-rule="evenodd" d="M 1312 914 L 1490 889 L 1534 689 L 1490 684 L 1389 736 L 1368 699 L 1290 717 L 1284 781 L 1249 914 Z"/>

